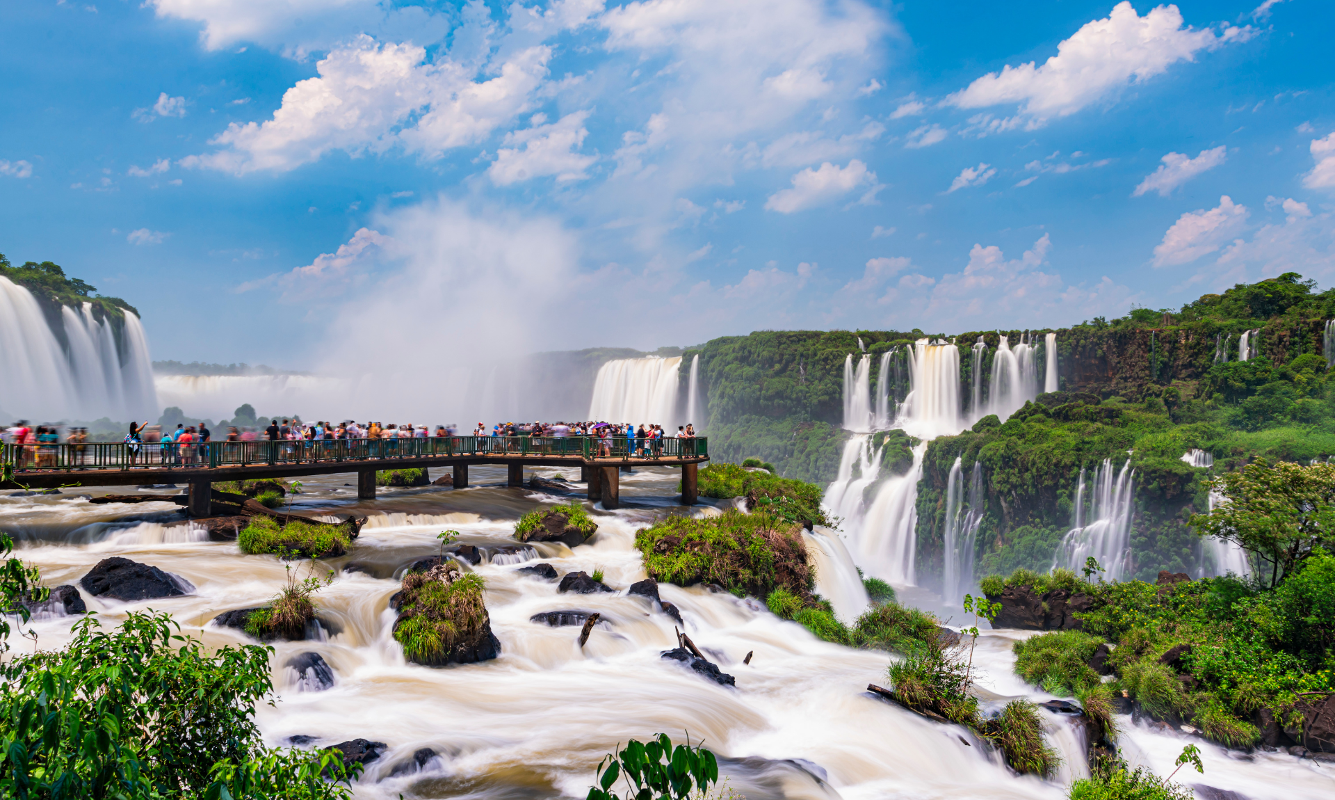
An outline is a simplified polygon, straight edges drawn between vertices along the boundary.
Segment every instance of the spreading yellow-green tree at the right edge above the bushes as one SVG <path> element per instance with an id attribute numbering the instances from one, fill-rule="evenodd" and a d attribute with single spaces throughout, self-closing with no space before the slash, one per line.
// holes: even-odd
<path id="1" fill-rule="evenodd" d="M 1312 549 L 1332 540 L 1335 526 L 1335 465 L 1302 466 L 1264 458 L 1206 486 L 1224 502 L 1208 514 L 1195 514 L 1197 536 L 1234 542 L 1270 565 L 1270 582 L 1291 574 Z"/>

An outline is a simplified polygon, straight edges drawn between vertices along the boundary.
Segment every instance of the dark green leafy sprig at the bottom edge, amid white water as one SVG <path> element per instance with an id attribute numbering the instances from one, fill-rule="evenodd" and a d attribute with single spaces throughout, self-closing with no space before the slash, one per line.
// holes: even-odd
<path id="1" fill-rule="evenodd" d="M 625 800 L 706 800 L 709 787 L 718 781 L 718 760 L 704 747 L 678 744 L 666 733 L 641 744 L 631 739 L 618 755 L 607 753 L 598 763 L 595 785 L 587 800 L 622 800 L 614 787 L 621 779 Z"/>

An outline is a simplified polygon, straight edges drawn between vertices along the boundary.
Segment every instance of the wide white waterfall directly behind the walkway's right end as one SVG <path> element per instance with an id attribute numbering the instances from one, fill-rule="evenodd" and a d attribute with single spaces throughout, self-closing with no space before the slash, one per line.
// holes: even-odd
<path id="1" fill-rule="evenodd" d="M 662 425 L 676 430 L 681 357 L 622 358 L 598 369 L 589 419 Z"/>

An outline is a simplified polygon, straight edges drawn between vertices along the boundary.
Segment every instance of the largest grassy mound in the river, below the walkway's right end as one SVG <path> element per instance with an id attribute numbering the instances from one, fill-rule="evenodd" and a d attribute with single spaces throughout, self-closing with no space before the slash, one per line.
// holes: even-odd
<path id="1" fill-rule="evenodd" d="M 635 533 L 635 548 L 649 577 L 678 586 L 718 584 L 752 597 L 782 586 L 806 597 L 814 582 L 801 528 L 764 513 L 665 517 Z"/>

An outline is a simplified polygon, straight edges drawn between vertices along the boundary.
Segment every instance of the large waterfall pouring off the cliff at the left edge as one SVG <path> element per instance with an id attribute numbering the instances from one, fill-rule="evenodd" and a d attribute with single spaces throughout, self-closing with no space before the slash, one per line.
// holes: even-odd
<path id="1" fill-rule="evenodd" d="M 55 331 L 27 288 L 0 278 L 0 409 L 36 422 L 155 419 L 152 361 L 139 318 L 120 331 L 91 303 L 60 310 Z M 61 343 L 64 342 L 64 343 Z"/>

